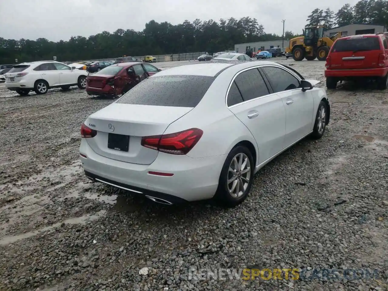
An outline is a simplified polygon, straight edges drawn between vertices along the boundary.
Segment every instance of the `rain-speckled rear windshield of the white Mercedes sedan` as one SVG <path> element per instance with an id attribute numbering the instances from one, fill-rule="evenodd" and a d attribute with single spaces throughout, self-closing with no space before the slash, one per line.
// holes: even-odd
<path id="1" fill-rule="evenodd" d="M 209 76 L 155 76 L 133 87 L 117 103 L 195 107 L 214 80 Z"/>

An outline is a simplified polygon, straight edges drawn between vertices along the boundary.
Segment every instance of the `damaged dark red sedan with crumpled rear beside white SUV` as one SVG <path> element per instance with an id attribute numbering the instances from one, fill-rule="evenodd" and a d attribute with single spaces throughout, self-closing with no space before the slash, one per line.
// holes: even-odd
<path id="1" fill-rule="evenodd" d="M 88 95 L 114 97 L 125 94 L 145 78 L 158 73 L 161 69 L 141 62 L 113 64 L 87 77 Z"/>

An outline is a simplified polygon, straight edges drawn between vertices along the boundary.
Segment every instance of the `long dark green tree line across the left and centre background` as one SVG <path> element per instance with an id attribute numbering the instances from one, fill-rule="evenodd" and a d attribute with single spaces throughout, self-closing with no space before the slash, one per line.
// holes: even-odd
<path id="1" fill-rule="evenodd" d="M 279 27 L 282 27 L 279 22 Z M 285 31 L 284 39 L 292 38 Z M 114 33 L 102 31 L 88 38 L 72 36 L 70 40 L 52 42 L 46 38 L 37 40 L 4 39 L 0 37 L 0 64 L 40 61 L 57 57 L 58 61 L 114 58 L 122 55 L 163 55 L 188 52 L 218 52 L 234 50 L 236 43 L 281 40 L 282 36 L 265 33 L 264 26 L 256 18 L 242 17 L 193 22 L 185 20 L 173 25 L 154 20 L 145 24 L 143 31 L 117 29 Z"/>

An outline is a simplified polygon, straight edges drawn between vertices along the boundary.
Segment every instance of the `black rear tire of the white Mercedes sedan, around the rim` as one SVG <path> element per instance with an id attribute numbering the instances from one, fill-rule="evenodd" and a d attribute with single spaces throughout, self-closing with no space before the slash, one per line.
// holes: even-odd
<path id="1" fill-rule="evenodd" d="M 242 193 L 239 196 L 237 195 L 238 197 L 233 197 L 232 194 L 230 194 L 230 192 L 229 192 L 229 185 L 231 183 L 233 183 L 233 182 L 230 182 L 228 184 L 228 180 L 231 178 L 230 177 L 231 172 L 229 171 L 229 168 L 230 168 L 230 165 L 232 164 L 232 161 L 234 158 L 237 157 L 236 159 L 237 159 L 237 161 L 239 161 L 240 154 L 242 154 L 243 156 L 248 158 L 249 165 L 247 165 L 247 167 L 249 166 L 250 171 L 249 171 L 249 176 L 246 177 L 246 178 L 248 178 L 248 183 L 246 183 L 244 176 L 242 176 L 245 174 L 241 175 L 241 173 L 240 173 L 237 175 L 237 177 L 241 177 L 240 180 L 244 181 L 245 184 L 247 184 L 247 185 L 246 185 L 245 190 L 241 191 Z M 245 168 L 245 169 L 247 169 L 247 168 Z M 252 183 L 253 183 L 254 170 L 255 170 L 255 163 L 253 162 L 252 153 L 249 151 L 249 149 L 242 146 L 242 145 L 237 145 L 236 147 L 234 147 L 232 149 L 232 151 L 229 152 L 227 158 L 225 159 L 225 163 L 223 164 L 223 167 L 221 170 L 220 179 L 218 181 L 218 188 L 217 188 L 217 192 L 215 195 L 217 202 L 219 204 L 221 204 L 222 206 L 226 206 L 226 207 L 236 207 L 237 205 L 242 203 L 242 201 L 244 201 L 246 199 L 246 197 L 248 197 L 249 191 L 251 190 Z M 237 185 L 239 185 L 239 182 L 237 182 Z M 237 186 L 235 186 L 235 187 L 237 187 Z M 239 187 L 241 187 L 241 186 L 239 186 Z"/>

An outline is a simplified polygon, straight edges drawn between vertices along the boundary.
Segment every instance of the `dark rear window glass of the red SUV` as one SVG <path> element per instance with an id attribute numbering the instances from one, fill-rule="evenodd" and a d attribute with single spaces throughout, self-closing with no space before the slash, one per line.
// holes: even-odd
<path id="1" fill-rule="evenodd" d="M 357 50 L 379 50 L 378 37 L 340 38 L 334 43 L 333 52 L 355 52 Z"/>

